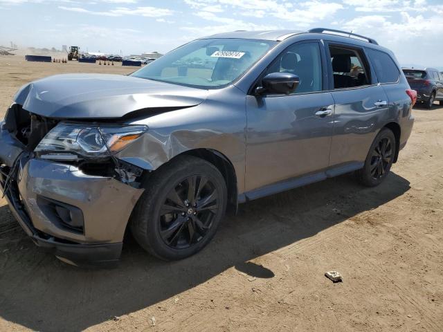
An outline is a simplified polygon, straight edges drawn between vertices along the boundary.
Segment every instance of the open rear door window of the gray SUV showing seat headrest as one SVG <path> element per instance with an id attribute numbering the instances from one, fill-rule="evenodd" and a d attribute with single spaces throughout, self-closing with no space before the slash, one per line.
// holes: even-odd
<path id="1" fill-rule="evenodd" d="M 330 46 L 334 89 L 354 88 L 369 84 L 368 69 L 361 52 L 350 48 Z"/>

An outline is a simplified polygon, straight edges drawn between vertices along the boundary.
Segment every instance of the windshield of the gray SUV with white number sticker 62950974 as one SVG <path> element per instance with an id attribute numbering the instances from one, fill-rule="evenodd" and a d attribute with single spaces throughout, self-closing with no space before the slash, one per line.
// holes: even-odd
<path id="1" fill-rule="evenodd" d="M 131 76 L 216 89 L 235 81 L 275 44 L 255 39 L 199 39 L 172 50 Z"/>

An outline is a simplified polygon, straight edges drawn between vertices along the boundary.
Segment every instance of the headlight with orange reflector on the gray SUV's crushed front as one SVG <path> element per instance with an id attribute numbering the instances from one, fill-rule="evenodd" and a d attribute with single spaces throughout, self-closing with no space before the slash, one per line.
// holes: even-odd
<path id="1" fill-rule="evenodd" d="M 146 126 L 94 126 L 57 124 L 39 142 L 35 152 L 42 158 L 75 160 L 78 156 L 108 157 L 147 131 Z"/>

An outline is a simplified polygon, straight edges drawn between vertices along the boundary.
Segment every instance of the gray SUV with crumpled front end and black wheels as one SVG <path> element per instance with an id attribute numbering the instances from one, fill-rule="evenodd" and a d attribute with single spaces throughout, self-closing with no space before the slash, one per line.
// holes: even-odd
<path id="1" fill-rule="evenodd" d="M 117 261 L 124 234 L 195 254 L 226 210 L 355 172 L 379 185 L 413 127 L 394 55 L 337 30 L 204 37 L 121 75 L 23 86 L 0 132 L 1 186 L 37 246 Z"/>

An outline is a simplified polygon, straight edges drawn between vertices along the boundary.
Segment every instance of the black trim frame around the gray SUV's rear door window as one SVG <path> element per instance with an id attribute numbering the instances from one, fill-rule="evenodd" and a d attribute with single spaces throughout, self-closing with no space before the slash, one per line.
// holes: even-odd
<path id="1" fill-rule="evenodd" d="M 345 50 L 353 50 L 354 52 L 359 53 L 359 55 L 361 57 L 363 56 L 361 61 L 363 62 L 363 66 L 365 66 L 365 68 L 369 69 L 369 71 L 366 71 L 366 72 L 369 75 L 368 80 L 370 83 L 365 84 L 365 85 L 360 85 L 360 86 L 351 86 L 349 88 L 334 89 L 334 70 L 332 69 L 332 62 L 330 61 L 331 53 L 329 51 L 329 47 L 343 48 Z M 330 92 L 366 89 L 371 86 L 377 86 L 379 84 L 378 82 L 375 83 L 372 80 L 372 78 L 376 77 L 376 76 L 375 76 L 374 70 L 372 69 L 372 64 L 370 63 L 368 55 L 366 54 L 365 48 L 363 46 L 358 46 L 355 44 L 348 44 L 348 43 L 344 43 L 344 42 L 326 41 L 325 51 L 326 51 L 326 57 L 327 57 L 327 59 L 329 59 L 329 61 L 327 62 L 327 68 L 328 68 L 328 72 L 329 72 L 329 91 Z"/>

